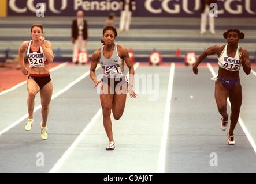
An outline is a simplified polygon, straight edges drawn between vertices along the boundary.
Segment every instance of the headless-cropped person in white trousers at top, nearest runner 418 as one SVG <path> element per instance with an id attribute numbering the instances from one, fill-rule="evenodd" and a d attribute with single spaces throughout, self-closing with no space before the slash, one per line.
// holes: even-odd
<path id="1" fill-rule="evenodd" d="M 209 29 L 210 33 L 215 34 L 215 23 L 214 14 L 210 13 L 213 7 L 210 7 L 211 3 L 217 3 L 217 0 L 201 0 L 201 24 L 200 24 L 200 34 L 205 34 L 207 17 L 209 17 Z"/>

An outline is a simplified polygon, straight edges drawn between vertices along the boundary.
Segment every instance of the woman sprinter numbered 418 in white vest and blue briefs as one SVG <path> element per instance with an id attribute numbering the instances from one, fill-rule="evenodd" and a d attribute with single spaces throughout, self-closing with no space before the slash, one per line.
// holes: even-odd
<path id="1" fill-rule="evenodd" d="M 212 46 L 199 56 L 193 66 L 193 72 L 198 74 L 198 65 L 208 55 L 218 55 L 218 76 L 215 82 L 215 100 L 218 106 L 218 112 L 221 114 L 221 129 L 225 131 L 228 124 L 227 98 L 231 102 L 230 127 L 227 131 L 228 144 L 235 144 L 234 129 L 238 122 L 240 107 L 242 105 L 242 87 L 239 78 L 239 69 L 242 66 L 243 71 L 249 75 L 251 64 L 249 54 L 246 49 L 238 46 L 238 41 L 244 39 L 244 33 L 238 29 L 228 29 L 223 34 L 227 39 L 227 44 L 222 46 Z"/>

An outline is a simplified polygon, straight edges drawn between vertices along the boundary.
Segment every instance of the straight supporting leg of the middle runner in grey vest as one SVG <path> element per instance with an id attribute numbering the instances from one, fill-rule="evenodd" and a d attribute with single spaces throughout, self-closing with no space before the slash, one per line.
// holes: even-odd
<path id="1" fill-rule="evenodd" d="M 102 107 L 102 114 L 103 114 L 103 125 L 107 134 L 107 137 L 109 138 L 109 142 L 114 141 L 113 139 L 113 132 L 112 132 L 112 122 L 110 118 L 111 109 L 112 109 L 112 103 L 114 94 L 110 93 L 103 93 L 103 89 L 110 90 L 110 87 L 103 82 L 102 88 L 101 88 L 101 94 L 99 95 L 99 98 L 101 99 L 101 107 Z"/>

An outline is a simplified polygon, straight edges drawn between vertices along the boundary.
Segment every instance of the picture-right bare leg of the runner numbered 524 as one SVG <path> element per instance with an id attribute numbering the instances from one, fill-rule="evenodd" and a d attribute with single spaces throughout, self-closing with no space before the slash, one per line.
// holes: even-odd
<path id="1" fill-rule="evenodd" d="M 49 114 L 49 104 L 51 102 L 51 95 L 53 94 L 53 82 L 50 81 L 40 90 L 41 97 L 41 113 L 42 113 L 42 127 L 46 127 L 47 117 Z"/>

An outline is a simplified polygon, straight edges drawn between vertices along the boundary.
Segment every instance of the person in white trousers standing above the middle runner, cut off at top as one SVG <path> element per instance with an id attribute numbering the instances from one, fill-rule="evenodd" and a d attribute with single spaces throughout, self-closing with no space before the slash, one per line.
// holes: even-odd
<path id="1" fill-rule="evenodd" d="M 132 17 L 132 2 L 134 0 L 120 0 L 121 1 L 121 14 L 120 14 L 120 31 L 128 31 L 130 29 Z"/>

